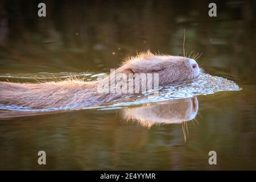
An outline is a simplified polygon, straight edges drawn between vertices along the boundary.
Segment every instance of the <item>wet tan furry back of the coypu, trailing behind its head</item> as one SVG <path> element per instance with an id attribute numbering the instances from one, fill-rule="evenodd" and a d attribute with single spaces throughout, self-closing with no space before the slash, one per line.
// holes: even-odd
<path id="1" fill-rule="evenodd" d="M 86 94 L 89 89 L 85 85 L 86 82 L 75 80 L 39 84 L 1 81 L 0 104 L 32 109 L 73 106 L 89 97 Z"/>

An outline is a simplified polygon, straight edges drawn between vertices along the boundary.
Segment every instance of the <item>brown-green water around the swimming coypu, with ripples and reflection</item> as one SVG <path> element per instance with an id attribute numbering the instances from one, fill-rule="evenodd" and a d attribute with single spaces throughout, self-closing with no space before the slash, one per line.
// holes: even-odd
<path id="1" fill-rule="evenodd" d="M 137 51 L 182 55 L 184 28 L 185 50 L 203 53 L 206 74 L 164 87 L 157 98 L 2 108 L 0 169 L 256 169 L 253 4 L 217 2 L 212 19 L 201 2 L 52 1 L 47 18 L 38 18 L 36 2 L 6 1 L 1 81 L 64 80 L 70 73 L 93 80 Z M 46 166 L 37 163 L 40 150 Z M 216 166 L 208 164 L 212 150 Z"/>

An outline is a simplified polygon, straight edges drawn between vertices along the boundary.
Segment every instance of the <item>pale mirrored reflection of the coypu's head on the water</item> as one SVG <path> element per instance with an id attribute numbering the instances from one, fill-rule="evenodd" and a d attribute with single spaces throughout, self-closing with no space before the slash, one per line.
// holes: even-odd
<path id="1" fill-rule="evenodd" d="M 145 104 L 140 107 L 123 109 L 123 118 L 127 121 L 136 121 L 139 125 L 151 127 L 152 125 L 181 123 L 185 135 L 187 121 L 195 119 L 198 111 L 196 97 L 171 100 L 155 105 Z"/>

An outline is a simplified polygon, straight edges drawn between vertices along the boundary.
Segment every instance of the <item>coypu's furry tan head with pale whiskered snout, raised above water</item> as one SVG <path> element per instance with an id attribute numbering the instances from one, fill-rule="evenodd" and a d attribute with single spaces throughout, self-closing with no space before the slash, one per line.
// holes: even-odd
<path id="1" fill-rule="evenodd" d="M 182 56 L 154 55 L 150 51 L 125 59 L 118 72 L 158 73 L 159 85 L 179 84 L 199 77 L 201 69 L 194 59 Z"/>

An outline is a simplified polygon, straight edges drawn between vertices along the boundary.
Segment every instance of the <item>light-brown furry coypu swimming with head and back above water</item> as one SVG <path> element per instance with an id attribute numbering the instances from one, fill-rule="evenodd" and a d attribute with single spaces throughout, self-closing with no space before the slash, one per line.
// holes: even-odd
<path id="1" fill-rule="evenodd" d="M 200 75 L 199 65 L 188 57 L 154 55 L 150 51 L 127 58 L 114 74 L 158 73 L 159 86 L 179 84 Z M 69 79 L 40 83 L 0 82 L 0 104 L 31 109 L 75 107 L 101 104 L 122 98 L 124 93 L 100 93 L 102 82 L 114 82 L 112 74 L 102 80 Z M 144 80 L 145 81 L 145 80 Z"/>

